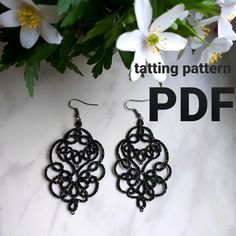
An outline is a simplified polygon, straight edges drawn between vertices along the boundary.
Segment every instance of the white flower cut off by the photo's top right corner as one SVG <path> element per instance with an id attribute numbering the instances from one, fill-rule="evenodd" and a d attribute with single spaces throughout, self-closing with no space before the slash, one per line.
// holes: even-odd
<path id="1" fill-rule="evenodd" d="M 236 40 L 236 33 L 233 30 L 231 21 L 236 17 L 236 0 L 218 0 L 221 6 L 221 14 L 218 20 L 218 37 L 225 37 L 229 40 Z"/>

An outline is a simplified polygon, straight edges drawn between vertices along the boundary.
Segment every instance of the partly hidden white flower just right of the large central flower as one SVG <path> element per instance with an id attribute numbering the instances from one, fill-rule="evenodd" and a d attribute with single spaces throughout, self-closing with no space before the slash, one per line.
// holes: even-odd
<path id="1" fill-rule="evenodd" d="M 193 29 L 196 31 L 199 37 L 205 39 L 211 32 L 210 28 L 208 28 L 207 26 L 212 24 L 213 22 L 216 22 L 217 20 L 218 20 L 217 16 L 213 16 L 209 19 L 200 20 L 197 23 L 193 24 Z M 198 49 L 203 44 L 203 42 L 196 36 L 189 37 L 189 42 L 190 42 L 190 47 L 192 49 Z"/>

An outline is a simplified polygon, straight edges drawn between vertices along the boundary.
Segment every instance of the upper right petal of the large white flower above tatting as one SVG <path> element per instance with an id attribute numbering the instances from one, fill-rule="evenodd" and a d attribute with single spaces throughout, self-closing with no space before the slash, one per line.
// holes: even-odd
<path id="1" fill-rule="evenodd" d="M 179 4 L 159 16 L 151 25 L 150 31 L 160 33 L 170 28 L 184 12 L 184 4 Z"/>

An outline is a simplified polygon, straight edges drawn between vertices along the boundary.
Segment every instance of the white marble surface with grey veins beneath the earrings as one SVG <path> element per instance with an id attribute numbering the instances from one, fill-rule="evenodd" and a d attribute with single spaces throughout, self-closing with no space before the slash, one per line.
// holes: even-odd
<path id="1" fill-rule="evenodd" d="M 168 62 L 176 63 L 172 56 Z M 179 63 L 187 62 L 188 54 Z M 173 168 L 167 194 L 140 213 L 115 188 L 111 169 L 116 144 L 136 121 L 123 102 L 147 98 L 156 81 L 129 82 L 118 57 L 97 80 L 83 58 L 78 63 L 84 78 L 70 72 L 59 75 L 44 65 L 33 99 L 26 94 L 23 71 L 0 74 L 0 236 L 235 236 L 235 108 L 223 110 L 221 122 L 214 123 L 210 110 L 200 121 L 180 122 L 179 109 L 180 87 L 198 87 L 210 99 L 212 87 L 235 86 L 235 73 L 170 78 L 165 85 L 178 95 L 177 104 L 161 112 L 159 122 L 148 122 L 148 104 L 137 105 L 146 125 L 169 147 Z M 105 148 L 107 170 L 98 194 L 74 216 L 51 196 L 43 175 L 50 145 L 73 127 L 73 112 L 67 107 L 71 98 L 100 104 L 79 107 L 84 128 Z"/>

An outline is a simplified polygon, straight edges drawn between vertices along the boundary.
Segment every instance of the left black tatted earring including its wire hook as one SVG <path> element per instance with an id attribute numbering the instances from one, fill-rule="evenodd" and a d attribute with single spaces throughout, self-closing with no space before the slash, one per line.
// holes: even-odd
<path id="1" fill-rule="evenodd" d="M 71 105 L 72 101 L 98 106 L 79 99 L 70 100 L 69 107 L 75 111 L 75 128 L 52 145 L 45 176 L 51 194 L 66 202 L 68 210 L 74 214 L 79 203 L 87 202 L 96 194 L 105 168 L 101 163 L 103 146 L 82 128 L 79 110 Z"/>

